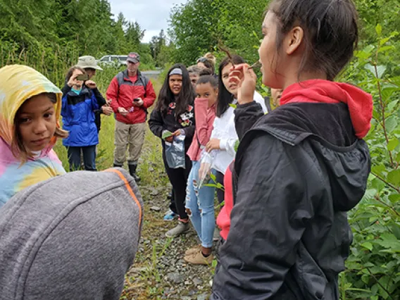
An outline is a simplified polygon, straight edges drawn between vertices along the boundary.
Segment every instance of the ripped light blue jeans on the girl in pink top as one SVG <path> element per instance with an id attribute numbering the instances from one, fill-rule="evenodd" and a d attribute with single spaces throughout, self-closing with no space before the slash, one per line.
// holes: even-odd
<path id="1" fill-rule="evenodd" d="M 194 229 L 199 236 L 201 246 L 213 246 L 213 233 L 215 228 L 214 194 L 215 187 L 201 187 L 197 189 L 199 180 L 199 161 L 192 161 L 192 170 L 187 180 L 186 208 Z M 215 175 L 215 170 L 211 170 Z"/>

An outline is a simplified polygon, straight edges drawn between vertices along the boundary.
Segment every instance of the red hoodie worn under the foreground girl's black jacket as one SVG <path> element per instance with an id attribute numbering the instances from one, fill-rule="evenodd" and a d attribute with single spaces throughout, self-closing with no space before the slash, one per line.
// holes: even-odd
<path id="1" fill-rule="evenodd" d="M 351 123 L 356 136 L 362 139 L 370 130 L 370 121 L 373 116 L 372 96 L 353 85 L 327 80 L 307 80 L 295 83 L 285 89 L 280 99 L 280 105 L 299 102 L 327 104 L 343 102 L 349 107 Z M 223 239 L 227 239 L 230 230 L 230 213 L 233 208 L 232 168 L 234 165 L 235 161 L 227 168 L 224 176 L 225 206 L 217 218 L 217 225 L 221 229 L 220 235 Z"/>

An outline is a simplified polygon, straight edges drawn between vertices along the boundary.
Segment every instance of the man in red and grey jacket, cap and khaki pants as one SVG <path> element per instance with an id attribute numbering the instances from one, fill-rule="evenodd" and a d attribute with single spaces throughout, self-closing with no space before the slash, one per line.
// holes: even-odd
<path id="1" fill-rule="evenodd" d="M 131 52 L 127 70 L 118 73 L 107 89 L 107 99 L 115 113 L 114 167 L 123 167 L 127 146 L 129 173 L 137 182 L 137 161 L 144 142 L 147 108 L 154 104 L 156 93 L 151 81 L 139 72 L 140 56 Z"/>

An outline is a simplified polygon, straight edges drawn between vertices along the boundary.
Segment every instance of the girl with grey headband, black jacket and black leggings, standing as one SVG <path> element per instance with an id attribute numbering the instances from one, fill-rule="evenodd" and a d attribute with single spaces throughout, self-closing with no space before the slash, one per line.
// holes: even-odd
<path id="1" fill-rule="evenodd" d="M 171 185 L 173 201 L 170 206 L 179 215 L 177 227 L 165 233 L 167 237 L 176 237 L 189 230 L 189 217 L 185 211 L 186 184 L 192 162 L 186 155 L 194 135 L 194 90 L 185 65 L 175 64 L 165 77 L 158 101 L 149 119 L 151 132 L 161 138 L 163 161 Z M 171 135 L 172 134 L 172 135 Z M 172 143 L 174 137 L 185 135 L 185 168 L 169 168 L 165 160 L 165 142 Z"/>

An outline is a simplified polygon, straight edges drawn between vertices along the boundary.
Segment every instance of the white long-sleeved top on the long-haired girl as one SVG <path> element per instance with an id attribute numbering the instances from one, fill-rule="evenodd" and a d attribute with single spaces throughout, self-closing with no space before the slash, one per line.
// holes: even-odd
<path id="1" fill-rule="evenodd" d="M 264 113 L 268 112 L 263 96 L 258 94 L 258 92 L 254 92 L 254 101 L 256 101 L 258 104 L 261 104 Z M 237 99 L 234 99 L 232 104 L 237 104 Z M 234 111 L 235 108 L 230 106 L 220 118 L 215 117 L 213 123 L 213 132 L 211 133 L 211 139 L 220 140 L 220 150 L 212 151 L 215 151 L 212 168 L 223 174 L 225 174 L 228 165 L 230 165 L 236 155 L 235 143 L 238 137 L 235 128 Z"/>

